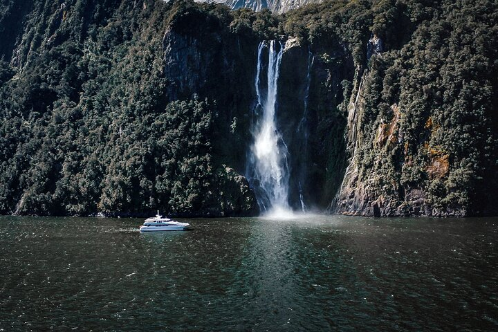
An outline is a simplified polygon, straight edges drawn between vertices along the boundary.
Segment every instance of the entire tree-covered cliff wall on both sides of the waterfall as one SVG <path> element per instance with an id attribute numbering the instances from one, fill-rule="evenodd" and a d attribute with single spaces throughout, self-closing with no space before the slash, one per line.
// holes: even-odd
<path id="1" fill-rule="evenodd" d="M 291 165 L 309 164 L 310 205 L 496 213 L 497 20 L 488 0 L 324 1 L 278 16 L 1 1 L 0 213 L 257 214 L 243 174 L 265 39 L 297 45 L 280 122 L 297 122 L 285 100 L 311 77 L 306 160 L 289 146 Z"/>

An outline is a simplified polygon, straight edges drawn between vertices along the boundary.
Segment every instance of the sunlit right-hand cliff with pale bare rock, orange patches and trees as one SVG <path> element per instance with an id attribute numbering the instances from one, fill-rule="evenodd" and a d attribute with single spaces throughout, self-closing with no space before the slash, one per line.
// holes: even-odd
<path id="1" fill-rule="evenodd" d="M 369 62 L 358 67 L 349 100 L 349 161 L 336 211 L 361 216 L 497 213 L 492 203 L 496 180 L 491 174 L 497 170 L 498 105 L 491 96 L 496 96 L 498 86 L 481 71 L 496 70 L 494 55 L 479 65 L 468 55 L 462 66 L 451 55 L 434 57 L 430 48 L 435 39 L 444 39 L 461 53 L 475 46 L 472 39 L 445 30 L 452 24 L 441 24 L 445 28 L 432 37 L 416 30 L 401 50 L 386 53 L 380 37 L 369 40 Z M 420 38 L 424 42 L 418 44 Z M 473 71 L 472 78 L 465 74 L 468 70 Z M 483 95 L 465 96 L 465 90 L 490 94 L 481 99 Z"/>

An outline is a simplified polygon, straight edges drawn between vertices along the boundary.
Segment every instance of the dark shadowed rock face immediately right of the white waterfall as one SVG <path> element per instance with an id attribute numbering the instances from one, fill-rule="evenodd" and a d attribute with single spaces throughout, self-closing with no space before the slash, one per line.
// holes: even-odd
<path id="1" fill-rule="evenodd" d="M 293 38 L 286 41 L 277 122 L 288 147 L 290 201 L 296 210 L 302 203 L 324 210 L 338 190 L 345 125 L 341 82 L 353 80 L 353 75 L 353 59 L 344 44 L 311 46 Z"/>

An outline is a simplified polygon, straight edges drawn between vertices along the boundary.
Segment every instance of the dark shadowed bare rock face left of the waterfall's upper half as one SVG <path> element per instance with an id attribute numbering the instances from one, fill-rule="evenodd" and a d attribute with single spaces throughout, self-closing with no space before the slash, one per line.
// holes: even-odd
<path id="1" fill-rule="evenodd" d="M 214 154 L 243 173 L 255 104 L 257 39 L 231 33 L 219 19 L 176 14 L 163 37 L 169 101 L 216 101 Z M 227 24 L 228 25 L 228 24 Z"/>

